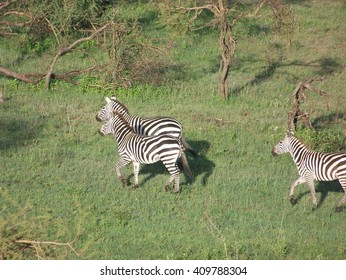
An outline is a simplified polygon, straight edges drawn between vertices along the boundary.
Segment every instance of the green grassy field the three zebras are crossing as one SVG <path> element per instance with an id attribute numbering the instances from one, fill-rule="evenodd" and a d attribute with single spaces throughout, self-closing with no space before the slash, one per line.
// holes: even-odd
<path id="1" fill-rule="evenodd" d="M 271 149 L 287 130 L 296 84 L 323 75 L 314 85 L 332 95 L 308 92 L 304 106 L 316 132 L 298 135 L 319 150 L 346 150 L 346 7 L 292 2 L 297 29 L 290 48 L 246 25 L 237 30 L 228 100 L 216 87 L 216 30 L 176 41 L 166 85 L 97 92 L 56 83 L 47 92 L 0 77 L 0 259 L 345 259 L 346 211 L 334 211 L 340 185 L 316 183 L 316 211 L 308 187 L 299 186 L 292 207 L 296 167 Z M 46 66 L 42 57 L 14 62 L 8 44 L 0 38 L 4 67 Z M 164 191 L 168 173 L 160 164 L 141 166 L 139 189 L 121 186 L 115 141 L 97 133 L 95 120 L 110 94 L 133 114 L 182 122 L 199 156 L 189 156 L 196 180 L 181 175 L 180 194 Z M 133 182 L 132 166 L 124 174 Z M 35 251 L 14 240 L 62 246 Z"/>

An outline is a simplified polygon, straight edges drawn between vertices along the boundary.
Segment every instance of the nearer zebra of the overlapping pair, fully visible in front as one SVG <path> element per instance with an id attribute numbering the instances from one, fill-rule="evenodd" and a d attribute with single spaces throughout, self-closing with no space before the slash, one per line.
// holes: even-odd
<path id="1" fill-rule="evenodd" d="M 115 171 L 124 186 L 126 186 L 126 180 L 121 175 L 120 169 L 131 162 L 133 162 L 134 170 L 134 187 L 138 187 L 141 163 L 151 164 L 161 161 L 170 174 L 165 185 L 166 191 L 174 181 L 173 192 L 179 192 L 179 168 L 177 166 L 179 158 L 182 160 L 184 171 L 193 180 L 183 147 L 177 138 L 170 135 L 148 136 L 134 133 L 132 127 L 117 111 L 114 111 L 113 117 L 102 125 L 99 132 L 101 135 L 112 133 L 115 136 L 120 155 L 120 160 L 115 164 Z"/>

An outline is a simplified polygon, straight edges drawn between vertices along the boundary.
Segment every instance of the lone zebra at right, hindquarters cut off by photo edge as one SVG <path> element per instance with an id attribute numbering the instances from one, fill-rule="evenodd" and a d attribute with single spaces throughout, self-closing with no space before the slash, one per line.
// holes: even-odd
<path id="1" fill-rule="evenodd" d="M 290 187 L 290 201 L 297 203 L 294 197 L 296 186 L 307 183 L 309 185 L 314 208 L 317 207 L 314 180 L 333 181 L 339 180 L 345 194 L 336 207 L 336 211 L 342 210 L 346 203 L 346 153 L 319 153 L 309 150 L 292 132 L 280 141 L 273 149 L 274 156 L 290 153 L 298 168 L 299 178 Z"/>

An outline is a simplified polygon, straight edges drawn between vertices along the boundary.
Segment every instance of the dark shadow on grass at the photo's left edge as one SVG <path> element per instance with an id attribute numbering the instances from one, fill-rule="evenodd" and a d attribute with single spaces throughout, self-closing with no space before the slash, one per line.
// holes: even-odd
<path id="1" fill-rule="evenodd" d="M 43 123 L 33 123 L 25 119 L 0 119 L 0 150 L 26 145 L 37 138 Z"/>

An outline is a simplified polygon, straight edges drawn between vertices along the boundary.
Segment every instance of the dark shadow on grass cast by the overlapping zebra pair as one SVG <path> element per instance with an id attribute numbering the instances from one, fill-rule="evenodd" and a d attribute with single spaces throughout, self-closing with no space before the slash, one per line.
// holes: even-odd
<path id="1" fill-rule="evenodd" d="M 215 167 L 215 164 L 209 160 L 205 154 L 207 153 L 208 149 L 210 148 L 210 144 L 207 141 L 188 141 L 189 144 L 193 147 L 193 149 L 197 152 L 197 156 L 192 156 L 188 152 L 185 152 L 188 162 L 190 165 L 190 169 L 192 171 L 192 175 L 194 176 L 195 180 L 199 176 L 202 177 L 202 185 L 205 186 L 207 184 L 209 176 L 213 173 L 213 169 Z M 132 164 L 131 164 L 131 170 L 132 170 Z M 184 181 L 180 181 L 180 185 L 184 186 L 187 184 L 193 184 L 191 182 L 190 178 L 185 174 L 182 165 L 179 163 L 179 169 L 182 174 L 185 176 Z M 142 164 L 140 171 L 139 171 L 139 185 L 143 186 L 145 183 L 150 182 L 152 178 L 159 174 L 166 174 L 167 179 L 169 177 L 169 173 L 166 170 L 165 166 L 162 164 L 162 162 L 156 162 L 154 164 Z M 144 175 L 148 175 L 145 178 Z M 133 179 L 133 172 L 131 172 L 131 175 L 127 179 L 128 185 L 130 185 L 130 180 Z M 162 186 L 163 187 L 163 186 Z"/>

